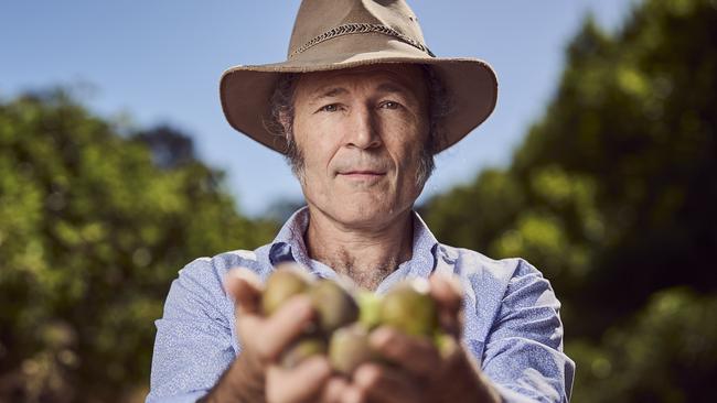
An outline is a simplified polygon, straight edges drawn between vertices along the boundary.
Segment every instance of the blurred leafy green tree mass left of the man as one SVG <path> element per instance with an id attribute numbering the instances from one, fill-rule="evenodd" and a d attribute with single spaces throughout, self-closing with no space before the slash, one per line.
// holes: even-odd
<path id="1" fill-rule="evenodd" d="M 0 104 L 0 401 L 146 388 L 178 270 L 276 231 L 222 184 L 171 128 L 119 137 L 63 91 Z"/>

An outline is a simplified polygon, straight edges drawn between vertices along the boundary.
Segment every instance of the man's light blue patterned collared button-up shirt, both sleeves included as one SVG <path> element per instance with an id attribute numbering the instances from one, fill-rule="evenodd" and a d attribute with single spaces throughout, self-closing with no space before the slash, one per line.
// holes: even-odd
<path id="1" fill-rule="evenodd" d="M 180 270 L 157 320 L 151 391 L 147 402 L 194 402 L 242 351 L 234 302 L 222 279 L 236 266 L 263 280 L 272 266 L 296 261 L 317 276 L 336 273 L 307 254 L 309 211 L 297 211 L 276 239 L 254 251 L 201 258 Z M 563 352 L 560 303 L 550 283 L 522 259 L 492 260 L 439 243 L 414 214 L 413 258 L 378 285 L 383 294 L 407 276 L 454 273 L 463 283 L 462 342 L 506 402 L 567 402 L 575 363 Z"/>

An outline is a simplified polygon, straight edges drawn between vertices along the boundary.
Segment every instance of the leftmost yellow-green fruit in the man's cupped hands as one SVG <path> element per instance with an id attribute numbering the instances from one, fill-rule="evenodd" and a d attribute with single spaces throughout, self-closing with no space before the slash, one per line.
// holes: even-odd
<path id="1" fill-rule="evenodd" d="M 285 264 L 271 273 L 261 295 L 265 315 L 274 314 L 290 297 L 306 292 L 311 284 L 309 274 Z"/>

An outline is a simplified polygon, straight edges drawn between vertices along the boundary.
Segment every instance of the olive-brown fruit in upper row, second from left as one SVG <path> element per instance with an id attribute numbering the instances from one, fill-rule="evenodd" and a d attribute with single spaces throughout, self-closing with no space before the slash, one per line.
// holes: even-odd
<path id="1" fill-rule="evenodd" d="M 311 285 L 308 294 L 317 311 L 319 328 L 325 335 L 358 318 L 358 306 L 347 286 L 322 279 Z"/>

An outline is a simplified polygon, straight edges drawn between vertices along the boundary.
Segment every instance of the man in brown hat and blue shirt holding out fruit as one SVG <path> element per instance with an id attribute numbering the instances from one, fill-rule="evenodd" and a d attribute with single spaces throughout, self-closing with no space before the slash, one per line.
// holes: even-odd
<path id="1" fill-rule="evenodd" d="M 271 243 L 180 271 L 157 322 L 148 401 L 567 401 L 574 363 L 549 283 L 523 260 L 439 243 L 413 211 L 434 154 L 488 118 L 496 88 L 483 62 L 435 57 L 404 1 L 304 0 L 288 61 L 227 70 L 221 96 L 234 128 L 287 155 L 308 207 Z M 378 328 L 372 346 L 394 366 L 351 379 L 323 357 L 281 368 L 314 315 L 302 297 L 260 315 L 261 283 L 286 262 L 379 294 L 429 277 L 461 348 L 441 356 Z"/>

